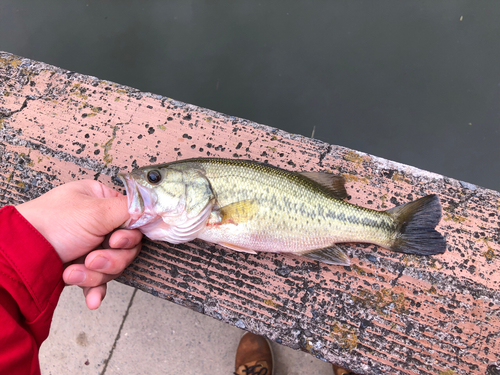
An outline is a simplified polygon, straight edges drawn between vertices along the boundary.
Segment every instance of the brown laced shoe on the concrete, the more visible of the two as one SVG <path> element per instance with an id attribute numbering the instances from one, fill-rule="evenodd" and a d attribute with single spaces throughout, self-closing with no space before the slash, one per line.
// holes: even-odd
<path id="1" fill-rule="evenodd" d="M 247 332 L 236 350 L 235 375 L 273 375 L 273 352 L 262 336 Z"/>

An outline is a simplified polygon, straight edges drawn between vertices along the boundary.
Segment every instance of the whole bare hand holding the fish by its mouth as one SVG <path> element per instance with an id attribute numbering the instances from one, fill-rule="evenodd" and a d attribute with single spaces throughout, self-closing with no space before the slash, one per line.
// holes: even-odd
<path id="1" fill-rule="evenodd" d="M 16 208 L 54 247 L 63 280 L 83 288 L 89 309 L 140 251 L 141 232 L 113 232 L 129 218 L 127 197 L 97 181 L 70 182 Z"/>

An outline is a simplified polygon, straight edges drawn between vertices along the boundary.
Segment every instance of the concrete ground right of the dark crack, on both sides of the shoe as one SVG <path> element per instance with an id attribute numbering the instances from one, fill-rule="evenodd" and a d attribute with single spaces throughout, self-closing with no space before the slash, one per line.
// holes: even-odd
<path id="1" fill-rule="evenodd" d="M 139 291 L 101 374 L 233 374 L 236 348 L 243 333 L 239 328 Z M 307 353 L 271 345 L 276 370 L 273 375 L 333 374 L 330 364 Z"/>

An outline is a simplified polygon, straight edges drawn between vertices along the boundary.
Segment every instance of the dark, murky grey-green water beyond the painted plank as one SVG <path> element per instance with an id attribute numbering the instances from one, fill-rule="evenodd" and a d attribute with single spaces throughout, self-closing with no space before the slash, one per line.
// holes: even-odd
<path id="1" fill-rule="evenodd" d="M 495 1 L 0 1 L 0 50 L 500 190 Z"/>

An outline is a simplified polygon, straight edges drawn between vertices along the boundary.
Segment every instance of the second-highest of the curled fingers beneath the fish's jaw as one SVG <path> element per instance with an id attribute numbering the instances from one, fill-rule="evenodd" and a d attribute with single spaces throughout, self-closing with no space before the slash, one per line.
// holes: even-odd
<path id="1" fill-rule="evenodd" d="M 132 249 L 103 249 L 94 250 L 85 259 L 88 270 L 106 274 L 121 273 L 139 254 L 141 244 Z"/>

